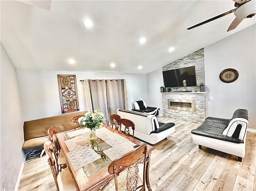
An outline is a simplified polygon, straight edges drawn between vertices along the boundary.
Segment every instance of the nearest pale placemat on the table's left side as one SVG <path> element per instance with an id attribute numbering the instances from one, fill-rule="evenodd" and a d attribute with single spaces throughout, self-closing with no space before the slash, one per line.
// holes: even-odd
<path id="1" fill-rule="evenodd" d="M 100 159 L 100 156 L 94 150 L 92 150 L 92 148 L 87 146 L 68 152 L 66 155 L 75 170 Z"/>

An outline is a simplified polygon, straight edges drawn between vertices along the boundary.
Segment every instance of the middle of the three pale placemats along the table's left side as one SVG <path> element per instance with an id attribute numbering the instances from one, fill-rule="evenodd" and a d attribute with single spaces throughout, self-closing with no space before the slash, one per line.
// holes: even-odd
<path id="1" fill-rule="evenodd" d="M 83 146 L 89 145 L 90 139 L 88 134 L 86 136 L 80 135 L 72 139 L 65 140 L 64 143 L 66 144 L 69 151 L 73 151 Z"/>

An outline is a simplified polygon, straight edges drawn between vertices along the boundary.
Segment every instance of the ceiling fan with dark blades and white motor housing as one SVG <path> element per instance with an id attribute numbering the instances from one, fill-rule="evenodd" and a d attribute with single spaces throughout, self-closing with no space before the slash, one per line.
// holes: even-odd
<path id="1" fill-rule="evenodd" d="M 236 28 L 238 26 L 238 24 L 240 24 L 240 22 L 245 19 L 245 18 L 252 18 L 255 14 L 256 14 L 256 3 L 255 0 L 233 0 L 235 2 L 235 9 L 232 9 L 228 12 L 222 13 L 218 16 L 215 16 L 213 18 L 210 18 L 204 22 L 201 22 L 199 24 L 196 24 L 190 28 L 187 28 L 188 30 L 201 26 L 203 24 L 206 24 L 208 22 L 211 22 L 213 20 L 216 20 L 220 17 L 223 17 L 225 15 L 228 15 L 232 12 L 234 12 L 236 18 L 234 19 L 234 21 L 231 23 L 231 25 L 229 26 L 228 31 L 233 30 L 234 28 Z"/>

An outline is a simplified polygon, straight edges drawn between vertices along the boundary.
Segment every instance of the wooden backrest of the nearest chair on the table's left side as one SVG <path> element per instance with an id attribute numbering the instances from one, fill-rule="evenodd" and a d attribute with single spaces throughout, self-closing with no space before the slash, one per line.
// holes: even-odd
<path id="1" fill-rule="evenodd" d="M 56 163 L 56 158 L 55 158 L 55 154 L 54 154 L 54 148 L 52 146 L 52 142 L 51 141 L 46 141 L 44 143 L 44 150 L 46 152 L 46 154 L 49 156 L 48 158 L 48 162 L 52 171 L 52 175 L 54 177 L 54 181 L 57 187 L 57 191 L 59 191 L 59 186 L 58 186 L 58 181 L 57 181 L 57 176 L 59 173 L 58 170 L 58 165 Z"/>

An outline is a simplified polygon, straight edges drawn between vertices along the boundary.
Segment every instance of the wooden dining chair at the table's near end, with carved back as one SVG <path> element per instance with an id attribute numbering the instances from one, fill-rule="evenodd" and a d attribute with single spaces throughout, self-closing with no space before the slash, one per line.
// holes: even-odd
<path id="1" fill-rule="evenodd" d="M 110 181 L 104 191 L 146 191 L 146 165 L 149 162 L 146 159 L 146 152 L 147 144 L 144 143 L 112 161 L 108 165 L 108 172 L 114 174 L 114 183 Z M 143 154 L 144 158 L 140 159 Z M 138 164 L 143 164 L 143 178 L 138 174 Z M 124 170 L 126 167 L 128 167 L 128 171 Z M 151 190 L 150 186 L 148 186 L 148 189 Z"/>

